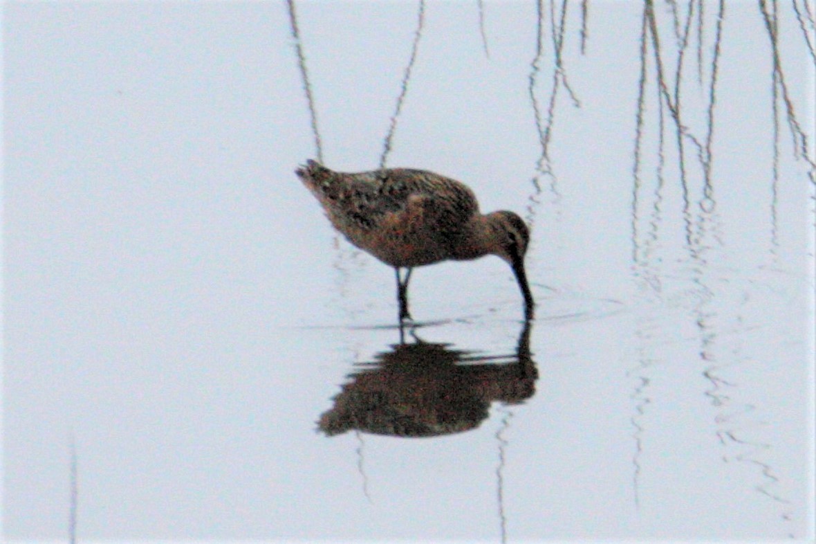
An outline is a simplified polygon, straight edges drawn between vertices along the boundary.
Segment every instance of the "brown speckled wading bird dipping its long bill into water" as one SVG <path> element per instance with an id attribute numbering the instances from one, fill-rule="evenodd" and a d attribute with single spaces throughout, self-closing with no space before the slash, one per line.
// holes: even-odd
<path id="1" fill-rule="evenodd" d="M 530 231 L 515 213 L 481 215 L 467 185 L 424 170 L 334 172 L 308 160 L 295 173 L 349 242 L 394 267 L 401 320 L 410 319 L 408 282 L 415 266 L 485 255 L 500 256 L 512 267 L 526 319 L 533 317 L 524 270 Z M 408 269 L 405 279 L 401 268 Z"/>

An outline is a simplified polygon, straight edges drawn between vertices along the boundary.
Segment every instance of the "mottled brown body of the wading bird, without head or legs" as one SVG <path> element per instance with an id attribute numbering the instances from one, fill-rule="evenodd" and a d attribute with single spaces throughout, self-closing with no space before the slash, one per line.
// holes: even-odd
<path id="1" fill-rule="evenodd" d="M 419 266 L 455 255 L 479 216 L 467 185 L 433 172 L 390 168 L 334 172 L 314 161 L 296 171 L 335 228 L 393 266 Z"/>

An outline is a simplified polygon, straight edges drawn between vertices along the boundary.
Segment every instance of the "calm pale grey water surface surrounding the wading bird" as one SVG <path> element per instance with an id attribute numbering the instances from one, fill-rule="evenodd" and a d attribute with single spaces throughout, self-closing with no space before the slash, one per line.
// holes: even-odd
<path id="1" fill-rule="evenodd" d="M 656 11 L 673 92 L 671 5 Z M 703 145 L 704 6 L 702 84 L 692 27 L 681 89 Z M 416 5 L 297 7 L 326 163 L 374 168 Z M 448 363 L 371 377 L 408 350 L 393 274 L 293 173 L 315 150 L 286 5 L 7 4 L 3 538 L 68 538 L 73 435 L 79 540 L 812 541 L 814 185 L 781 97 L 774 180 L 760 8 L 727 5 L 708 182 L 689 138 L 681 176 L 651 50 L 633 175 L 641 9 L 589 2 L 582 56 L 570 3 L 580 107 L 558 87 L 539 162 L 534 2 L 485 2 L 489 58 L 477 2 L 428 3 L 388 165 L 526 216 L 537 319 L 519 357 L 507 265 L 415 270 L 415 334 Z M 779 11 L 812 160 L 813 59 Z M 382 419 L 364 409 L 383 399 Z M 332 410 L 460 432 L 329 438 Z"/>

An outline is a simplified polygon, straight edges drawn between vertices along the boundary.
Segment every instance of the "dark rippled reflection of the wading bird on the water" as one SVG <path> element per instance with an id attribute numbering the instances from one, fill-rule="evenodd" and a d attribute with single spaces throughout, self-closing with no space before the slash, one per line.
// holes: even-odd
<path id="1" fill-rule="evenodd" d="M 450 344 L 420 340 L 392 346 L 349 377 L 322 414 L 327 436 L 359 430 L 375 435 L 427 437 L 475 429 L 490 403 L 520 404 L 535 393 L 538 371 L 530 356 L 530 328 L 521 329 L 517 351 L 479 355 Z"/>

